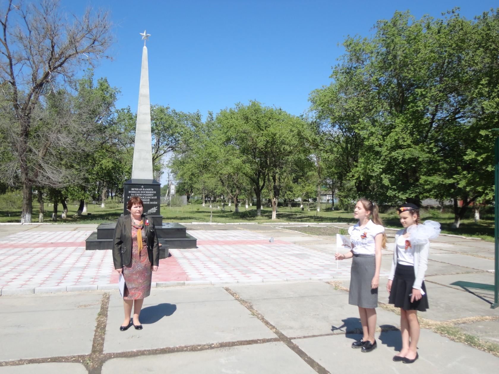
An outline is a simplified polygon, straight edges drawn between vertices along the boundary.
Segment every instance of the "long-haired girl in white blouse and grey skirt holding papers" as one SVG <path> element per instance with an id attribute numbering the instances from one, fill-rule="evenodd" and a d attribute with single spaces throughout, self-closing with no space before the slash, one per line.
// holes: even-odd
<path id="1" fill-rule="evenodd" d="M 352 348 L 371 352 L 377 347 L 374 338 L 375 308 L 378 306 L 381 248 L 386 248 L 386 235 L 378 215 L 378 207 L 372 201 L 364 197 L 359 199 L 355 204 L 353 216 L 359 222 L 348 229 L 352 250 L 346 254 L 337 253 L 336 259 L 353 257 L 348 304 L 357 305 L 359 308 L 363 336 L 359 341 L 353 342 Z"/>

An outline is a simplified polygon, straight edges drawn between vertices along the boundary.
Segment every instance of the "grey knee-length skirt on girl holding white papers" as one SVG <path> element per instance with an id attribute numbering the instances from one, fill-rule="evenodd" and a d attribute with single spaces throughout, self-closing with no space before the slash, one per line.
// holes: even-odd
<path id="1" fill-rule="evenodd" d="M 353 255 L 348 304 L 370 309 L 378 307 L 378 289 L 371 289 L 375 271 L 374 255 Z"/>

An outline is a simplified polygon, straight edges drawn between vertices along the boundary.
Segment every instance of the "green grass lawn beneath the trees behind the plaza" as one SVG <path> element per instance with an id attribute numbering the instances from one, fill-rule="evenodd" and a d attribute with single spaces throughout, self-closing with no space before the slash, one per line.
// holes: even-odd
<path id="1" fill-rule="evenodd" d="M 116 208 L 101 208 L 100 204 L 88 204 L 88 213 L 82 216 L 74 216 L 76 214 L 78 206 L 75 204 L 68 204 L 68 214 L 67 218 L 62 220 L 60 218 L 60 213 L 62 206 L 59 205 L 59 215 L 57 223 L 101 223 L 101 222 L 113 222 L 118 219 L 122 214 L 123 210 L 121 207 Z M 45 206 L 45 222 L 51 222 L 50 218 L 52 216 L 52 206 Z M 8 215 L 10 213 L 10 216 Z M 6 209 L 2 208 L 0 205 L 0 222 L 19 222 L 21 211 L 12 210 L 7 212 Z M 183 206 L 166 206 L 161 205 L 161 214 L 163 215 L 163 220 L 165 222 L 210 222 L 210 208 L 209 206 L 201 206 L 198 204 L 188 204 Z M 302 222 L 302 223 L 320 223 L 320 222 L 347 222 L 355 223 L 356 220 L 353 218 L 353 214 L 341 210 L 321 210 L 318 214 L 315 210 L 308 211 L 300 210 L 300 208 L 287 208 L 279 207 L 277 210 L 277 219 L 272 221 L 272 209 L 264 207 L 261 212 L 261 216 L 256 215 L 256 207 L 250 206 L 248 210 L 245 209 L 244 205 L 240 207 L 240 212 L 234 212 L 234 205 L 227 206 L 226 210 L 213 209 L 212 222 L 216 223 L 231 223 L 231 222 Z M 386 227 L 401 228 L 397 214 L 386 213 L 381 214 L 381 218 L 384 221 Z M 459 229 L 452 228 L 452 223 L 454 222 L 454 215 L 451 213 L 434 213 L 430 215 L 428 213 L 422 214 L 423 220 L 433 219 L 442 224 L 442 232 L 448 234 L 481 237 L 488 241 L 494 241 L 494 216 L 486 216 L 479 223 L 475 223 L 473 219 L 464 219 L 461 222 L 461 227 Z M 38 203 L 33 202 L 33 222 L 38 220 Z M 311 228 L 313 229 L 313 228 Z M 311 230 L 316 232 L 317 230 Z M 318 231 L 317 231 L 318 232 Z M 322 231 L 321 231 L 322 232 Z M 331 231 L 332 232 L 332 231 Z M 310 232 L 312 233 L 312 232 Z M 336 233 L 336 232 L 334 232 Z M 327 233 L 322 233 L 327 234 Z"/>

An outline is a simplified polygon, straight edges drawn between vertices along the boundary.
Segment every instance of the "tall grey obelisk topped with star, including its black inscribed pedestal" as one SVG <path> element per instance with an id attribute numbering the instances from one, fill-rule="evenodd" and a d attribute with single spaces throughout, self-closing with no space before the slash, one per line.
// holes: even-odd
<path id="1" fill-rule="evenodd" d="M 139 105 L 133 149 L 132 179 L 124 184 L 123 212 L 127 214 L 127 201 L 132 196 L 140 196 L 144 203 L 144 213 L 154 216 L 156 225 L 162 224 L 160 214 L 161 185 L 153 179 L 153 155 L 151 142 L 151 104 L 149 100 L 149 67 L 146 40 L 150 34 L 144 30 L 142 40 L 142 67 L 140 71 Z"/>

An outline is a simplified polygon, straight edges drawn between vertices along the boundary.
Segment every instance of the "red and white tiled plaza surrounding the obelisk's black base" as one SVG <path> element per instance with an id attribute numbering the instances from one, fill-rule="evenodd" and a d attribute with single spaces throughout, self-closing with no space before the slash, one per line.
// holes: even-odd
<path id="1" fill-rule="evenodd" d="M 0 238 L 0 289 L 55 292 L 114 288 L 110 250 L 85 250 L 92 230 L 25 231 Z M 153 273 L 154 286 L 346 278 L 350 261 L 334 259 L 335 248 L 314 250 L 250 230 L 193 230 L 194 249 L 170 249 Z M 311 238 L 313 240 L 313 237 Z M 173 283 L 177 282 L 177 283 Z"/>

